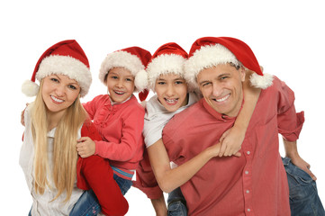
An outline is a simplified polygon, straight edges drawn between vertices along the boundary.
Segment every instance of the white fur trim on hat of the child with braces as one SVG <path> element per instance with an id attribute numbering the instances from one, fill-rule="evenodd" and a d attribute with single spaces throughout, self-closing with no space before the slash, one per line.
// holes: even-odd
<path id="1" fill-rule="evenodd" d="M 176 54 L 163 54 L 153 58 L 147 67 L 149 88 L 155 89 L 158 76 L 175 74 L 184 77 L 185 58 Z"/>

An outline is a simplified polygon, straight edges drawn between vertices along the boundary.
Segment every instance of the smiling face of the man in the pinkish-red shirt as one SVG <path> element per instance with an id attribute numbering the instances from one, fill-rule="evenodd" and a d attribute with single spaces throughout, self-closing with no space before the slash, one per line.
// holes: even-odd
<path id="1" fill-rule="evenodd" d="M 230 117 L 235 117 L 239 113 L 244 80 L 244 69 L 237 69 L 230 64 L 203 69 L 197 76 L 197 84 L 205 101 L 216 112 Z"/>

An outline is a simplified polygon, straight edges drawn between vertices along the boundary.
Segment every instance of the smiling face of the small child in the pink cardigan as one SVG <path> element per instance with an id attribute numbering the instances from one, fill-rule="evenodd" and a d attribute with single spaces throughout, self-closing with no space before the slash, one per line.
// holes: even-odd
<path id="1" fill-rule="evenodd" d="M 134 92 L 134 76 L 124 67 L 113 67 L 106 78 L 107 89 L 115 103 L 122 103 Z"/>

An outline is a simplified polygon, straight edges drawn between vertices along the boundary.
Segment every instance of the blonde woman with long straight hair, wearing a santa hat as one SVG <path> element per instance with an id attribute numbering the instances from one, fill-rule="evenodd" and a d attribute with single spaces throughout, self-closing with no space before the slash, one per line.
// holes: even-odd
<path id="1" fill-rule="evenodd" d="M 36 95 L 24 112 L 20 155 L 33 200 L 29 215 L 97 215 L 98 201 L 105 215 L 124 215 L 128 210 L 109 162 L 77 156 L 77 139 L 101 139 L 79 100 L 90 84 L 89 63 L 76 40 L 64 40 L 47 49 L 32 80 L 23 84 L 23 93 Z M 84 192 L 90 188 L 98 201 L 95 195 L 86 195 L 93 197 L 93 205 L 84 202 L 76 208 L 83 193 L 93 194 Z"/>

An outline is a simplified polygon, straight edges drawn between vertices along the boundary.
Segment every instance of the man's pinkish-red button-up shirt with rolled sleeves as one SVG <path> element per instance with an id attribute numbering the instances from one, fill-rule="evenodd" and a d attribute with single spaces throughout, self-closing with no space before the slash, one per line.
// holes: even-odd
<path id="1" fill-rule="evenodd" d="M 293 101 L 293 91 L 277 77 L 262 90 L 242 156 L 214 157 L 181 186 L 188 215 L 290 215 L 278 132 L 290 141 L 299 137 L 304 117 L 295 112 Z M 163 130 L 170 160 L 185 163 L 215 144 L 235 120 L 215 112 L 204 99 L 176 114 Z"/>

